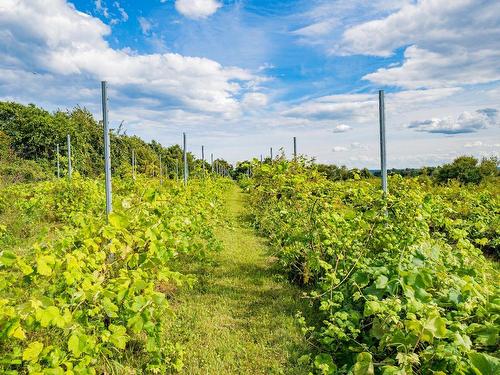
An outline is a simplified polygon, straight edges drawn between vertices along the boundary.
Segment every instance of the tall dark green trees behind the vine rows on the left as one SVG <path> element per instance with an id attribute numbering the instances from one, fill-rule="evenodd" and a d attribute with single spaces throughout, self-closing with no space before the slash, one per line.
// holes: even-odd
<path id="1" fill-rule="evenodd" d="M 19 165 L 7 168 L 0 163 L 1 176 L 21 175 L 23 179 L 40 179 L 40 173 L 31 172 L 38 164 L 44 171 L 44 178 L 54 176 L 56 171 L 56 145 L 60 146 L 60 161 L 63 175 L 66 173 L 67 146 L 66 136 L 71 136 L 73 169 L 81 175 L 93 177 L 104 171 L 102 125 L 85 108 L 76 107 L 71 111 L 49 113 L 33 104 L 28 106 L 14 102 L 0 102 L 0 160 L 4 159 L 6 149 L 24 162 L 21 171 Z M 137 172 L 148 176 L 158 176 L 160 157 L 163 171 L 170 178 L 175 177 L 176 165 L 182 175 L 182 149 L 178 145 L 165 148 L 158 142 L 146 143 L 136 136 L 127 136 L 118 129 L 111 131 L 111 167 L 114 175 L 131 174 L 132 150 L 135 151 Z M 10 156 L 9 156 L 10 157 Z M 202 162 L 188 153 L 190 171 L 200 174 Z M 36 164 L 35 164 L 36 162 Z M 221 160 L 220 163 L 230 168 Z M 210 171 L 208 163 L 207 172 Z M 23 174 L 24 171 L 24 174 Z M 21 178 L 10 178 L 19 181 Z"/>

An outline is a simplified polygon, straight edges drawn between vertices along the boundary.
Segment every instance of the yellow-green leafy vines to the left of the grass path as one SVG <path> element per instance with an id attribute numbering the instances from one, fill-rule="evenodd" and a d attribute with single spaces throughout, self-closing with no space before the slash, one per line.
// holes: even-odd
<path id="1" fill-rule="evenodd" d="M 130 356 L 142 372 L 179 369 L 180 347 L 163 340 L 172 311 L 162 285 L 192 282 L 171 268 L 180 254 L 204 259 L 219 248 L 213 229 L 225 182 L 114 185 L 108 221 L 101 182 L 7 188 L 21 214 L 63 226 L 23 252 L 0 251 L 0 372 L 109 373 Z"/>

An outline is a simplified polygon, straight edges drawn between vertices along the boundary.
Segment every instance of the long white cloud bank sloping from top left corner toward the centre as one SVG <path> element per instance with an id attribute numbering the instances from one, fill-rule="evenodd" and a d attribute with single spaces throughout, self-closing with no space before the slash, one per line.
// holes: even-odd
<path id="1" fill-rule="evenodd" d="M 64 0 L 3 0 L 0 10 L 0 67 L 9 70 L 107 80 L 135 96 L 226 116 L 260 79 L 207 58 L 113 49 L 109 26 Z"/>

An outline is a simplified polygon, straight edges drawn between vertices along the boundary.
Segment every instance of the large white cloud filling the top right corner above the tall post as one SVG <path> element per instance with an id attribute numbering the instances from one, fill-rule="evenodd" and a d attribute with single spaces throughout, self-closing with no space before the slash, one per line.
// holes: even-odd
<path id="1" fill-rule="evenodd" d="M 401 66 L 364 78 L 405 88 L 445 87 L 500 79 L 500 2 L 421 0 L 345 30 L 336 54 L 390 56 L 407 47 Z"/>

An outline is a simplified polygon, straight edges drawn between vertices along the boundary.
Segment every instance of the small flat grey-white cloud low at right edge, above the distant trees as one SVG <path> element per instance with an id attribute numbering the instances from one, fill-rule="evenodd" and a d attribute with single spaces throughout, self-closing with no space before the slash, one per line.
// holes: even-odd
<path id="1" fill-rule="evenodd" d="M 414 121 L 408 127 L 419 132 L 461 134 L 475 133 L 478 130 L 498 125 L 498 111 L 493 108 L 484 108 L 475 112 L 463 112 L 456 119 L 444 117 Z"/>

